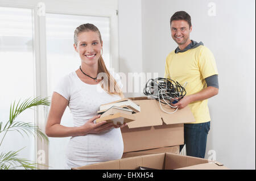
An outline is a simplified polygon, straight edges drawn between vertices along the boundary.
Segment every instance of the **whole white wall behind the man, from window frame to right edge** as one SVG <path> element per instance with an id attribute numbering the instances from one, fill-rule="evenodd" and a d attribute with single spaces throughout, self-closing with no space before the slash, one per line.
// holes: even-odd
<path id="1" fill-rule="evenodd" d="M 208 14 L 209 2 L 216 16 Z M 163 77 L 166 56 L 177 47 L 170 18 L 180 10 L 191 15 L 191 39 L 212 50 L 219 73 L 219 94 L 209 99 L 205 158 L 215 153 L 230 169 L 255 169 L 254 0 L 119 0 L 119 71 Z"/>

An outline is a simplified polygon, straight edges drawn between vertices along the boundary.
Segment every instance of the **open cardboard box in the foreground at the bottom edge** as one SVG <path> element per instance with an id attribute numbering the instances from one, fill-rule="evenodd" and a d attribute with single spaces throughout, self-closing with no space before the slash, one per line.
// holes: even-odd
<path id="1" fill-rule="evenodd" d="M 114 161 L 96 163 L 72 170 L 136 170 L 139 166 L 159 170 L 225 170 L 228 169 L 220 163 L 208 161 L 203 158 L 189 157 L 172 153 L 149 154 L 138 157 L 117 159 Z"/>

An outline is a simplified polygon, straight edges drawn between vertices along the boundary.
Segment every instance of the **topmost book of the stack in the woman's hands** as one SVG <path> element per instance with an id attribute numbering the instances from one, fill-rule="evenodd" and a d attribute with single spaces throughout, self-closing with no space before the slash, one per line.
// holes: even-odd
<path id="1" fill-rule="evenodd" d="M 100 110 L 108 110 L 110 107 L 112 106 L 117 106 L 117 107 L 126 107 L 126 108 L 130 108 L 131 110 L 133 110 L 134 112 L 141 112 L 141 107 L 139 107 L 139 105 L 135 104 L 132 100 L 130 99 L 121 99 L 121 100 L 117 100 L 115 102 L 111 102 L 108 104 L 102 104 L 100 106 Z"/>

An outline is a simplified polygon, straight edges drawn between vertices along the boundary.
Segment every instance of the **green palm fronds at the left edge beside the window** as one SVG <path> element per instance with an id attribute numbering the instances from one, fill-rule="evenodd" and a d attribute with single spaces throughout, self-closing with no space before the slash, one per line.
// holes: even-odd
<path id="1" fill-rule="evenodd" d="M 22 121 L 15 121 L 16 117 L 22 113 L 23 111 L 27 110 L 28 108 L 36 107 L 36 106 L 49 106 L 50 102 L 48 98 L 28 98 L 23 102 L 19 102 L 15 104 L 11 104 L 10 107 L 10 117 L 7 123 L 3 126 L 3 122 L 0 122 L 0 150 L 1 145 L 9 131 L 17 131 L 20 134 L 26 134 L 27 136 L 33 135 L 37 136 L 48 144 L 48 137 L 44 134 L 40 129 L 33 123 L 24 123 Z M 23 149 L 23 148 L 22 148 Z M 17 151 L 9 151 L 8 153 L 1 153 L 0 152 L 0 170 L 5 169 L 16 169 L 18 167 L 23 167 L 24 169 L 37 169 L 38 163 L 32 163 L 28 159 L 19 158 L 18 153 L 20 150 Z"/>

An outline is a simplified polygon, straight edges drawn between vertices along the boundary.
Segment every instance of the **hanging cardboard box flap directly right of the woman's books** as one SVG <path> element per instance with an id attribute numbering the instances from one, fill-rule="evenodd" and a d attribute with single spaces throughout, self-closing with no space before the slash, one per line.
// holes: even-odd
<path id="1" fill-rule="evenodd" d="M 133 100 L 133 102 L 140 104 L 141 112 L 133 114 L 135 121 L 127 123 L 129 128 L 151 127 L 163 124 L 154 99 Z"/>

